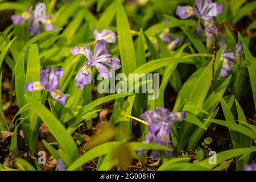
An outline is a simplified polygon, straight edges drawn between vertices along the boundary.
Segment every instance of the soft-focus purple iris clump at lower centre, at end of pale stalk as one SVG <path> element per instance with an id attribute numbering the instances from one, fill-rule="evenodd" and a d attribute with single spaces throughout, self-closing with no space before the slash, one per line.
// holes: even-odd
<path id="1" fill-rule="evenodd" d="M 156 143 L 163 146 L 172 147 L 170 132 L 171 125 L 174 121 L 182 121 L 185 118 L 185 113 L 170 113 L 168 109 L 156 107 L 154 110 L 148 110 L 141 115 L 141 119 L 150 123 L 148 126 L 148 135 L 144 143 Z M 138 150 L 136 154 L 143 154 L 146 150 Z M 167 156 L 171 156 L 172 152 L 165 151 Z M 159 150 L 153 150 L 151 154 L 152 160 L 157 160 L 160 157 Z"/>

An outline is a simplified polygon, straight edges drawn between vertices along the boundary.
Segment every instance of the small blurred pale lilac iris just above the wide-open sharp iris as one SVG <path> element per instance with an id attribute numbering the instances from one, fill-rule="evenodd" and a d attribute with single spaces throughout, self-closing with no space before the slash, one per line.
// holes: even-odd
<path id="1" fill-rule="evenodd" d="M 98 31 L 96 28 L 93 28 L 93 37 L 96 40 L 104 39 L 108 43 L 116 43 L 117 42 L 117 34 L 109 29 L 104 29 L 102 31 Z"/>

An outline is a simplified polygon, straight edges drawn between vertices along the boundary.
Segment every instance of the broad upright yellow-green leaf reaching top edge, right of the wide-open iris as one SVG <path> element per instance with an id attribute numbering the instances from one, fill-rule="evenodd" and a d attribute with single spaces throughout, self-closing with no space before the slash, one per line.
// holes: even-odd
<path id="1" fill-rule="evenodd" d="M 122 72 L 128 75 L 136 68 L 136 58 L 129 22 L 121 1 L 117 0 L 117 34 Z"/>

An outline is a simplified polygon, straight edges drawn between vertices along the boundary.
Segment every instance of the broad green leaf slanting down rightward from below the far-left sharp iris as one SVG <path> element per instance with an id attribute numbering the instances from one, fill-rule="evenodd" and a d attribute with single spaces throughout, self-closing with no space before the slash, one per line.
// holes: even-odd
<path id="1" fill-rule="evenodd" d="M 76 143 L 72 137 L 68 134 L 65 127 L 60 121 L 40 102 L 36 101 L 35 98 L 25 96 L 32 108 L 36 111 L 39 117 L 42 119 L 44 124 L 48 127 L 49 131 L 55 137 L 60 147 L 64 150 L 63 160 L 68 166 L 78 158 L 78 150 Z"/>

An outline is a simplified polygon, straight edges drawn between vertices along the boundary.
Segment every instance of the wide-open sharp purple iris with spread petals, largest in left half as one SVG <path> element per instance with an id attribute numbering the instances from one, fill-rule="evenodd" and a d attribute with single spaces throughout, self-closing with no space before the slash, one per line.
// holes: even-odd
<path id="1" fill-rule="evenodd" d="M 84 67 L 80 69 L 75 78 L 76 86 L 78 88 L 84 89 L 84 86 L 92 81 L 93 66 L 96 67 L 98 72 L 100 72 L 100 75 L 105 79 L 112 77 L 112 73 L 109 71 L 106 65 L 113 69 L 121 68 L 120 60 L 118 58 L 110 58 L 110 54 L 98 56 L 105 50 L 106 45 L 106 40 L 97 40 L 94 48 L 94 55 L 92 55 L 89 44 L 87 46 L 84 45 L 84 47 L 75 46 L 74 49 L 70 50 L 73 55 L 81 54 L 84 55 L 88 60 L 84 63 Z"/>

